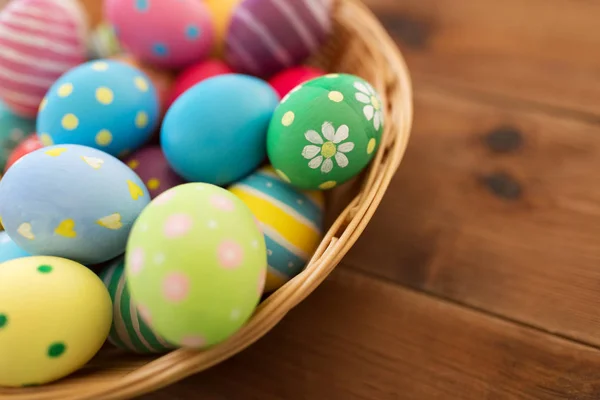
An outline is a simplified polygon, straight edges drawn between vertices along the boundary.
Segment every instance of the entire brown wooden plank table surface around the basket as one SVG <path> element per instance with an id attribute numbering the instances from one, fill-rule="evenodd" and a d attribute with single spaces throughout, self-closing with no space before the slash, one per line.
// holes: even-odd
<path id="1" fill-rule="evenodd" d="M 599 399 L 600 2 L 367 3 L 415 85 L 381 208 L 264 339 L 144 398 Z"/>

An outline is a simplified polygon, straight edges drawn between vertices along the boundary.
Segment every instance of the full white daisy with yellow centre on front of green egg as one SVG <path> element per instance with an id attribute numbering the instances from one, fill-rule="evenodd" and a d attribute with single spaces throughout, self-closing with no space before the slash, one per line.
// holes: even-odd
<path id="1" fill-rule="evenodd" d="M 310 160 L 308 166 L 312 169 L 321 168 L 321 172 L 328 174 L 334 167 L 333 160 L 340 168 L 348 166 L 346 153 L 354 149 L 354 143 L 345 142 L 350 135 L 348 125 L 341 125 L 337 130 L 331 122 L 323 123 L 321 136 L 317 131 L 307 131 L 306 140 L 312 144 L 304 146 L 302 157 Z M 343 143 L 342 143 L 343 142 Z"/>

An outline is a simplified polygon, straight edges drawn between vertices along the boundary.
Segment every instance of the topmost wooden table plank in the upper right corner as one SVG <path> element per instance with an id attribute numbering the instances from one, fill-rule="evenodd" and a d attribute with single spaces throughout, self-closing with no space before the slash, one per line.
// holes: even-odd
<path id="1" fill-rule="evenodd" d="M 600 2 L 364 1 L 417 78 L 600 116 Z"/>

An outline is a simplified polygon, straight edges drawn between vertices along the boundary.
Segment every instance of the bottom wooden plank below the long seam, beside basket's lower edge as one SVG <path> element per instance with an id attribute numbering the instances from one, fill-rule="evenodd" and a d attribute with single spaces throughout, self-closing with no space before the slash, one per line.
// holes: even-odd
<path id="1" fill-rule="evenodd" d="M 595 349 L 341 267 L 256 345 L 144 399 L 585 400 L 598 368 Z"/>

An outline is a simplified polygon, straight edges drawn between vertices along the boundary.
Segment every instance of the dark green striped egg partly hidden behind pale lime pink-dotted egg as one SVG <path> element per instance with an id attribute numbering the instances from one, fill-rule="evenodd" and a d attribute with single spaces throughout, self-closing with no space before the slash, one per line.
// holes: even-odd
<path id="1" fill-rule="evenodd" d="M 133 303 L 123 274 L 124 266 L 124 257 L 119 257 L 107 263 L 100 273 L 113 302 L 113 322 L 108 341 L 120 349 L 138 354 L 159 354 L 174 349 L 175 346 L 156 335 L 144 322 L 149 314 Z"/>

